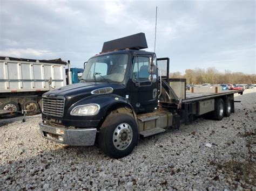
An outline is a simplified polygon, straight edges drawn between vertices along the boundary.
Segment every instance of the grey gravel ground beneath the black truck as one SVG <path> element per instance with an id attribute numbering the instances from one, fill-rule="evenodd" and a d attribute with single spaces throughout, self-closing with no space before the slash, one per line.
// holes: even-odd
<path id="1" fill-rule="evenodd" d="M 235 114 L 197 119 L 139 140 L 132 154 L 106 157 L 97 146 L 53 143 L 41 116 L 0 120 L 0 190 L 255 188 L 256 91 L 236 96 Z M 205 146 L 210 143 L 212 146 Z"/>

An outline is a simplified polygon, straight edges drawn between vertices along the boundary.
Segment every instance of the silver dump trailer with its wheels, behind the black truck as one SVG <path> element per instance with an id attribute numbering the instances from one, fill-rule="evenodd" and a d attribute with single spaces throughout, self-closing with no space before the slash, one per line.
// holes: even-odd
<path id="1" fill-rule="evenodd" d="M 42 94 L 66 86 L 66 64 L 61 59 L 0 56 L 0 110 L 26 110 L 28 115 L 39 113 Z"/>

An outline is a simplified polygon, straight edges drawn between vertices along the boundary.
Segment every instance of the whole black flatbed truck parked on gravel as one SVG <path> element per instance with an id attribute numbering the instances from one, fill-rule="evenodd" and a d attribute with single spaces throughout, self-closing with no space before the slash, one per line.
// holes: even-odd
<path id="1" fill-rule="evenodd" d="M 43 94 L 42 136 L 68 145 L 98 142 L 106 155 L 122 158 L 140 137 L 234 112 L 234 93 L 243 90 L 186 93 L 185 79 L 169 79 L 169 58 L 143 48 L 144 33 L 107 41 L 86 63 L 80 83 Z"/>

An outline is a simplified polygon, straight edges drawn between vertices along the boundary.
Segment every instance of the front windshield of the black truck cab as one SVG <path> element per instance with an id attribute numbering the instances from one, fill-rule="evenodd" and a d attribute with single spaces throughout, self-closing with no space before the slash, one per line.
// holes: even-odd
<path id="1" fill-rule="evenodd" d="M 82 79 L 86 82 L 122 82 L 128 63 L 128 54 L 97 56 L 87 62 Z"/>

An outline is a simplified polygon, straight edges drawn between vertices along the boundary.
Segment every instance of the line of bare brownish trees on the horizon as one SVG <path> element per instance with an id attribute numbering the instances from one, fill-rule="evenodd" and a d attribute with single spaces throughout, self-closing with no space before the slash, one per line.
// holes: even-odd
<path id="1" fill-rule="evenodd" d="M 256 74 L 245 74 L 242 72 L 231 72 L 225 70 L 225 72 L 219 72 L 214 67 L 207 69 L 186 69 L 185 74 L 181 72 L 170 73 L 171 78 L 185 78 L 187 84 L 252 84 L 256 83 Z"/>

